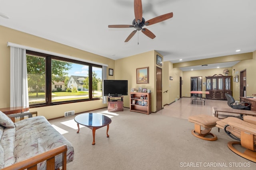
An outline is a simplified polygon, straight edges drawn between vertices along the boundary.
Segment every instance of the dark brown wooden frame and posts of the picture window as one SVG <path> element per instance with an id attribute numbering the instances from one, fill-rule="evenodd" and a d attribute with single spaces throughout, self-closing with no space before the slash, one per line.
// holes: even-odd
<path id="1" fill-rule="evenodd" d="M 46 91 L 45 91 L 45 102 L 41 104 L 30 104 L 30 108 L 34 107 L 44 107 L 44 106 L 54 106 L 54 105 L 59 105 L 59 104 L 70 104 L 70 103 L 76 103 L 76 102 L 86 102 L 86 101 L 92 101 L 92 100 L 100 100 L 101 98 L 93 98 L 92 95 L 92 67 L 98 67 L 102 68 L 102 65 L 98 64 L 92 64 L 92 63 L 87 63 L 84 61 L 78 61 L 74 59 L 68 59 L 65 57 L 58 57 L 50 54 L 45 54 L 45 53 L 40 53 L 36 51 L 30 51 L 26 50 L 26 55 L 36 55 L 38 57 L 45 57 L 45 82 L 46 82 Z M 89 76 L 89 98 L 88 99 L 79 99 L 79 100 L 68 100 L 68 101 L 63 101 L 63 102 L 52 102 L 52 59 L 59 60 L 59 61 L 65 61 L 65 62 L 70 62 L 70 63 L 76 63 L 76 64 L 83 64 L 83 65 L 88 65 L 89 70 L 88 70 L 88 76 Z"/>

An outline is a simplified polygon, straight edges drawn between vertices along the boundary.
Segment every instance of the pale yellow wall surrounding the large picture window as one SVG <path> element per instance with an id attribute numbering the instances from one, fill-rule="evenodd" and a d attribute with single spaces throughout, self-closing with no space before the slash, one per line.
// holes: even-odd
<path id="1" fill-rule="evenodd" d="M 60 53 L 96 63 L 103 63 L 107 64 L 109 68 L 114 68 L 115 61 L 112 59 L 42 39 L 34 35 L 22 33 L 20 31 L 9 29 L 3 26 L 0 26 L 0 37 L 0 72 L 2 73 L 1 79 L 3 80 L 2 83 L 0 83 L 0 108 L 10 107 L 10 47 L 7 47 L 7 42 L 51 51 L 54 53 Z M 112 76 L 108 76 L 108 78 L 110 77 Z M 51 119 L 54 117 L 64 116 L 65 111 L 74 110 L 75 113 L 79 113 L 82 111 L 88 111 L 102 107 L 107 107 L 107 105 L 102 104 L 102 100 L 96 100 L 90 102 L 78 102 L 57 106 L 31 108 L 30 111 L 38 111 L 38 115 L 44 115 L 46 119 Z"/>

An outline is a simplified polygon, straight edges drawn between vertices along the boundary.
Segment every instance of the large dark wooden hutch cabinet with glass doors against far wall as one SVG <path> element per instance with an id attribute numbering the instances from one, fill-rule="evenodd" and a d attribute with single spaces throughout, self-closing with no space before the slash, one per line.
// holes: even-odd
<path id="1" fill-rule="evenodd" d="M 206 99 L 227 100 L 225 93 L 232 95 L 232 76 L 223 76 L 215 74 L 206 77 Z"/>

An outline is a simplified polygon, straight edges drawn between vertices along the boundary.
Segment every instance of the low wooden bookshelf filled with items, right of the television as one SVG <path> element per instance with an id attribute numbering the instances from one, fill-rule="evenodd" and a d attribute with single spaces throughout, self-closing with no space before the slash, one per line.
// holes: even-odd
<path id="1" fill-rule="evenodd" d="M 130 111 L 149 114 L 151 113 L 151 93 L 131 92 Z"/>

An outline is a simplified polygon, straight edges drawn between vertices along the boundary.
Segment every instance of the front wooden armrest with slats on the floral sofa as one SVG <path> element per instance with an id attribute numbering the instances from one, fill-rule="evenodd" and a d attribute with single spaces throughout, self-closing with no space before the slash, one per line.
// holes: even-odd
<path id="1" fill-rule="evenodd" d="M 66 170 L 66 154 L 67 154 L 67 145 L 62 145 L 60 147 L 54 148 L 52 150 L 46 151 L 44 153 L 38 154 L 2 170 L 37 170 L 37 164 L 46 160 L 46 169 L 54 170 L 55 168 L 55 156 L 62 154 L 62 170 Z"/>

